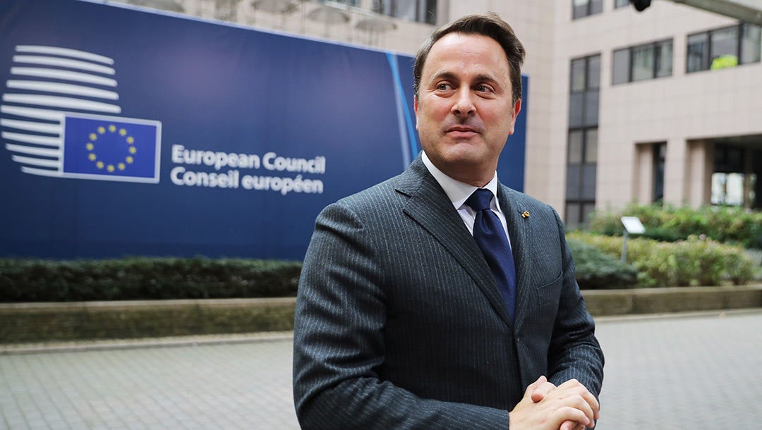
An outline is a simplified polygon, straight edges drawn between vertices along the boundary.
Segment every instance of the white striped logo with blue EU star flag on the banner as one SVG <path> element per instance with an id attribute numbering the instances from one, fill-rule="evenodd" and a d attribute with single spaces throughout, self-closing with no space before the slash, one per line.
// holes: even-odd
<path id="1" fill-rule="evenodd" d="M 122 109 L 113 66 L 76 49 L 15 47 L 0 126 L 21 171 L 158 183 L 162 123 L 115 116 Z"/>

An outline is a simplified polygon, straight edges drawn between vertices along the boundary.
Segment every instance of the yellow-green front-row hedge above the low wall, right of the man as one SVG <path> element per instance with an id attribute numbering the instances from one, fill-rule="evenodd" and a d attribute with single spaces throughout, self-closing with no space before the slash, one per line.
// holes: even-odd
<path id="1" fill-rule="evenodd" d="M 610 256 L 620 256 L 622 237 L 572 232 L 576 239 L 598 247 Z M 689 236 L 674 243 L 645 237 L 627 240 L 627 261 L 638 270 L 638 286 L 742 285 L 754 278 L 757 263 L 741 247 L 711 239 Z"/>

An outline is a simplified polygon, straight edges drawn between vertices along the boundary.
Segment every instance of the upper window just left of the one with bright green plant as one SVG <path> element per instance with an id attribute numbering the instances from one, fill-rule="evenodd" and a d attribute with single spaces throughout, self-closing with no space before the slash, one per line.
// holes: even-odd
<path id="1" fill-rule="evenodd" d="M 616 49 L 612 84 L 645 81 L 672 75 L 672 40 Z"/>

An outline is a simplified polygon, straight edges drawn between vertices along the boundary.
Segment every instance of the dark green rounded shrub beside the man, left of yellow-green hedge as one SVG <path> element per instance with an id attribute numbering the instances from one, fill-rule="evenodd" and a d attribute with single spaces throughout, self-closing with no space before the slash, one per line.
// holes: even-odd
<path id="1" fill-rule="evenodd" d="M 569 238 L 577 283 L 583 289 L 634 288 L 638 271 L 582 240 Z"/>

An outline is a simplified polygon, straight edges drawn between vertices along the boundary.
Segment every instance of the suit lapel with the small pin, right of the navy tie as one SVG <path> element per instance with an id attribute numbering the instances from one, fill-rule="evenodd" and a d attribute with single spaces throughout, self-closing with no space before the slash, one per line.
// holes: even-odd
<path id="1" fill-rule="evenodd" d="M 511 237 L 511 252 L 514 254 L 516 265 L 516 320 L 515 325 L 521 326 L 529 310 L 532 291 L 530 289 L 533 271 L 532 235 L 530 217 L 522 214 L 527 210 L 523 207 L 523 199 L 507 186 L 500 185 L 498 199 L 505 215 L 508 235 Z"/>

